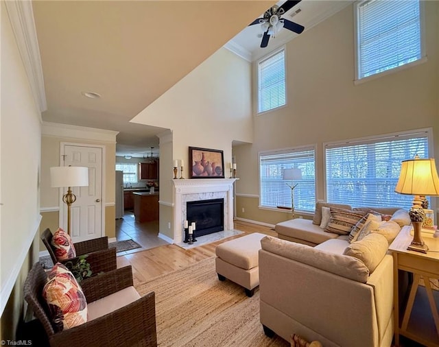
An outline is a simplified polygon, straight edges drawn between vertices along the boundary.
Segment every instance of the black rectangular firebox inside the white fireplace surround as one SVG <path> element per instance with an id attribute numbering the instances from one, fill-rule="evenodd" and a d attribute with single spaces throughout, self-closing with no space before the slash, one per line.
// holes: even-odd
<path id="1" fill-rule="evenodd" d="M 224 199 L 188 201 L 186 219 L 195 222 L 195 236 L 224 230 Z"/>

